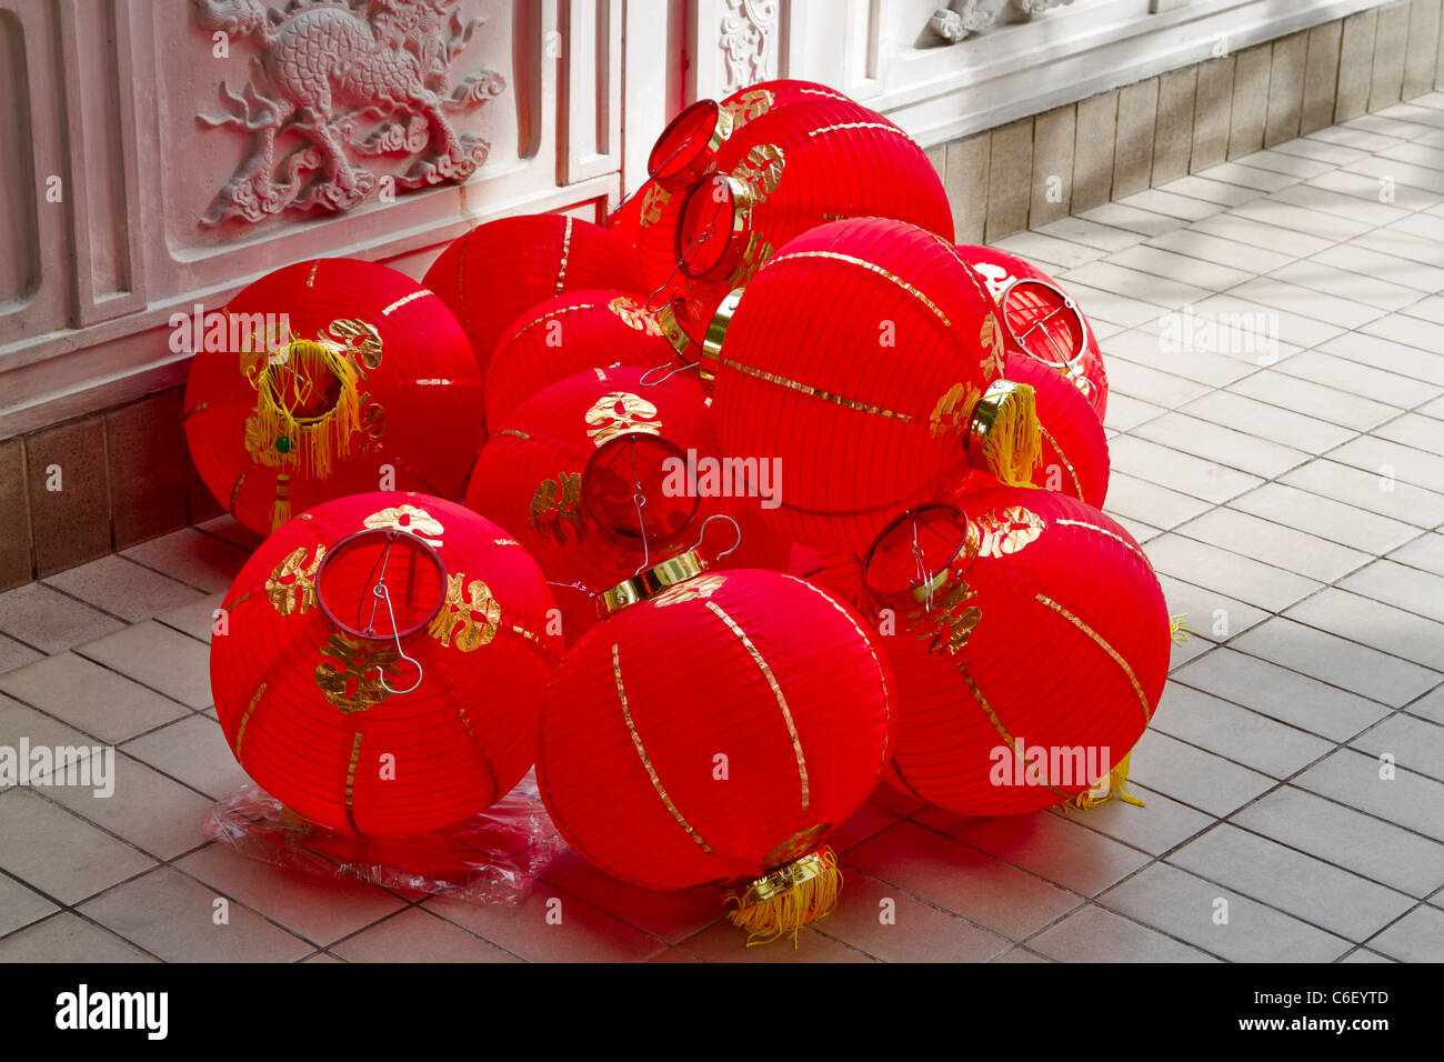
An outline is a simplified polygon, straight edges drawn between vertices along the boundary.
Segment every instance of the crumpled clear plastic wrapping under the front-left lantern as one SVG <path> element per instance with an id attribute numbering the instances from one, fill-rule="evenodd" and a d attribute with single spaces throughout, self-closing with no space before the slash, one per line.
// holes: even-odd
<path id="1" fill-rule="evenodd" d="M 417 837 L 347 837 L 300 818 L 258 786 L 217 803 L 204 828 L 261 863 L 471 903 L 518 903 L 566 848 L 531 772 L 479 815 Z"/>

